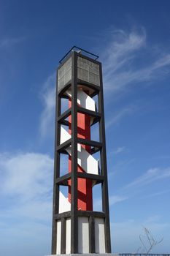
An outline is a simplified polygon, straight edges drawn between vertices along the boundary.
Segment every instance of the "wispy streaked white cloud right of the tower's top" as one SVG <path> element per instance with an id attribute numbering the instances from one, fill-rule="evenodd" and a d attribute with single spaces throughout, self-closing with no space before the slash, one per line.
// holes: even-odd
<path id="1" fill-rule="evenodd" d="M 130 83 L 152 81 L 161 72 L 168 72 L 170 53 L 157 51 L 147 45 L 144 28 L 139 31 L 112 31 L 102 59 L 104 61 L 104 87 L 109 91 L 123 90 Z M 158 46 L 157 46 L 158 48 Z M 139 65 L 136 60 L 139 60 Z M 150 61 L 152 59 L 152 61 Z"/>

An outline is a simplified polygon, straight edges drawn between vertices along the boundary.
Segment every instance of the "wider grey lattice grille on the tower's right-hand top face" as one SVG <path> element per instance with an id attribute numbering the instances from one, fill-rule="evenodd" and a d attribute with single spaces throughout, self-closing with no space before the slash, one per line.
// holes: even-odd
<path id="1" fill-rule="evenodd" d="M 78 56 L 77 78 L 100 86 L 99 65 Z"/>

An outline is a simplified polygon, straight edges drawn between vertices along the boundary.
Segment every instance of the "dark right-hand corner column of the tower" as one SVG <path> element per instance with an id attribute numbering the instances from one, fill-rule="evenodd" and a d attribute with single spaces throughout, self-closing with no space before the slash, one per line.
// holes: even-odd
<path id="1" fill-rule="evenodd" d="M 105 138 L 105 125 L 104 125 L 104 93 L 103 93 L 103 80 L 102 80 L 102 68 L 100 69 L 100 91 L 98 94 L 98 110 L 101 113 L 101 119 L 99 121 L 99 137 L 102 143 L 101 148 L 101 174 L 104 176 L 104 182 L 102 184 L 102 209 L 105 214 L 104 230 L 105 230 L 105 246 L 106 252 L 111 252 L 110 241 L 110 227 L 109 227 L 109 195 L 108 195 L 108 181 L 107 181 L 107 153 L 106 153 L 106 138 Z"/>

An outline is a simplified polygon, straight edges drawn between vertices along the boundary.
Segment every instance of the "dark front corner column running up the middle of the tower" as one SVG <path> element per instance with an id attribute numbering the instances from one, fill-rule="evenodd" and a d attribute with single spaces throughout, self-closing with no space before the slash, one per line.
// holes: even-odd
<path id="1" fill-rule="evenodd" d="M 71 253 L 78 253 L 77 216 L 77 53 L 72 53 L 72 180 L 71 180 Z"/>

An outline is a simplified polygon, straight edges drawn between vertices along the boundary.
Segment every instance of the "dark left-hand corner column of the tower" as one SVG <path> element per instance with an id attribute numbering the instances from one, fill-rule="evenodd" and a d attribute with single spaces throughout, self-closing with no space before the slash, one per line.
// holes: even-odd
<path id="1" fill-rule="evenodd" d="M 61 124 L 58 123 L 57 118 L 61 115 L 61 97 L 58 96 L 58 72 L 56 79 L 56 97 L 55 97 L 55 155 L 54 155 L 54 183 L 53 183 L 53 227 L 52 227 L 52 254 L 56 254 L 56 236 L 57 236 L 57 222 L 54 218 L 58 214 L 59 207 L 59 185 L 56 185 L 56 178 L 60 177 L 60 153 L 57 151 L 57 146 L 60 145 Z"/>

